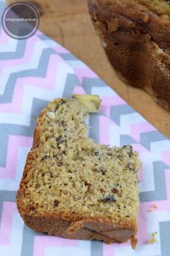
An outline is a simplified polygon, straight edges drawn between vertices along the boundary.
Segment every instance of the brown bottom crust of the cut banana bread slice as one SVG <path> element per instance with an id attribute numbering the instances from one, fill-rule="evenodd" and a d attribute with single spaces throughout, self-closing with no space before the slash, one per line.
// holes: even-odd
<path id="1" fill-rule="evenodd" d="M 23 216 L 23 218 L 24 223 L 35 231 L 63 236 L 68 239 L 97 239 L 110 244 L 112 242 L 126 242 L 135 234 L 134 231 L 122 229 L 122 227 L 118 225 L 108 226 L 94 221 L 85 222 L 79 229 L 70 232 L 69 229 L 73 223 L 71 221 L 26 215 Z"/>

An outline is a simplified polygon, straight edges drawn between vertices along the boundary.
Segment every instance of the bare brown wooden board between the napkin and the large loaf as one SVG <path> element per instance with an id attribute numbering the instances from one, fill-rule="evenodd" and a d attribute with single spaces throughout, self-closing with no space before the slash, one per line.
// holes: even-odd
<path id="1" fill-rule="evenodd" d="M 14 2 L 14 1 L 10 1 Z M 115 74 L 89 18 L 86 0 L 35 0 L 40 11 L 40 30 L 84 61 L 130 106 L 160 132 L 170 137 L 170 113 L 148 93 L 126 85 Z"/>

